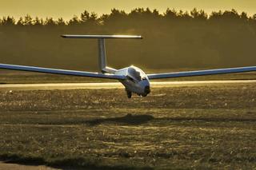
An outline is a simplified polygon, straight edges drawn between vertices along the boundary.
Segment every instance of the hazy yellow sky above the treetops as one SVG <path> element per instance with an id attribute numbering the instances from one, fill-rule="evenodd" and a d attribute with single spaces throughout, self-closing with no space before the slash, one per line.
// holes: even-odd
<path id="1" fill-rule="evenodd" d="M 256 0 L 0 0 L 0 17 L 23 17 L 30 14 L 39 18 L 53 17 L 70 19 L 84 10 L 97 14 L 109 14 L 110 10 L 130 10 L 136 7 L 150 7 L 161 13 L 168 7 L 176 10 L 191 10 L 194 7 L 210 13 L 218 10 L 245 11 L 256 14 Z"/>

